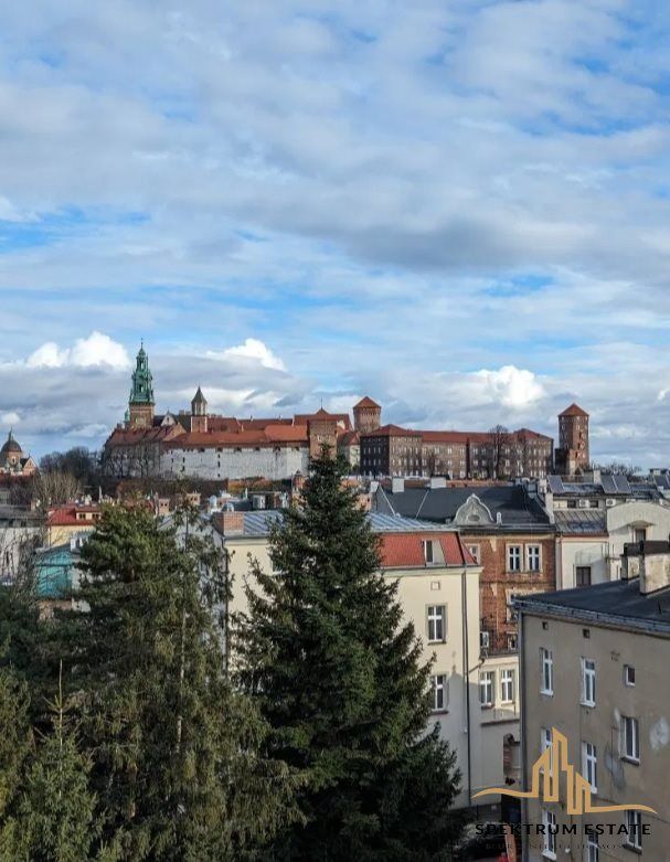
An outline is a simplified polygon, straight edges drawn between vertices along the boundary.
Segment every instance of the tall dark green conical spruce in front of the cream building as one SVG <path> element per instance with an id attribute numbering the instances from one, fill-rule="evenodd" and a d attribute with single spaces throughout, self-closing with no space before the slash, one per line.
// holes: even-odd
<path id="1" fill-rule="evenodd" d="M 429 663 L 403 620 L 397 586 L 347 465 L 325 448 L 302 504 L 270 534 L 238 626 L 240 679 L 273 727 L 268 754 L 306 777 L 305 822 L 277 860 L 440 860 L 460 831 L 449 812 L 459 774 L 429 732 Z"/>

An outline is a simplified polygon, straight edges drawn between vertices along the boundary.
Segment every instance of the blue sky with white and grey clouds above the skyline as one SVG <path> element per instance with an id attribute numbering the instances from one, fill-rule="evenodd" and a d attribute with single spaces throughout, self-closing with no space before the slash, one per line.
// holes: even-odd
<path id="1" fill-rule="evenodd" d="M 661 0 L 0 12 L 0 435 L 350 409 L 670 466 Z"/>

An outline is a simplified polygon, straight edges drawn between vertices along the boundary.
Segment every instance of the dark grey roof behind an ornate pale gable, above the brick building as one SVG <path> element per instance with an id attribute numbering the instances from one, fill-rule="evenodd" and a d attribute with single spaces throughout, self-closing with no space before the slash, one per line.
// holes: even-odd
<path id="1" fill-rule="evenodd" d="M 502 526 L 545 525 L 549 515 L 540 502 L 521 485 L 469 486 L 466 488 L 405 488 L 392 491 L 381 486 L 374 494 L 377 512 L 404 518 L 450 523 L 466 500 L 476 494 L 493 520 L 501 515 Z M 468 529 L 470 525 L 468 524 Z M 491 529 L 491 524 L 487 529 Z"/>

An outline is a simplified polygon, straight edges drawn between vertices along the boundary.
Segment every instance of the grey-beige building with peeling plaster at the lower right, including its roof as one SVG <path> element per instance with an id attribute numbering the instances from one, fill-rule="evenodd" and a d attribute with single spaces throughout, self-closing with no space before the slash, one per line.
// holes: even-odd
<path id="1" fill-rule="evenodd" d="M 517 607 L 522 780 L 510 789 L 536 791 L 522 801 L 523 860 L 669 862 L 670 545 L 627 545 L 620 579 Z"/>

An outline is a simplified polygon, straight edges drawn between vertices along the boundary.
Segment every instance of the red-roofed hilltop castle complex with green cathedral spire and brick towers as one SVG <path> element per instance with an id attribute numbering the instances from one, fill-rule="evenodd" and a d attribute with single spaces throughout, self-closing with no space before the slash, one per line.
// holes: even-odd
<path id="1" fill-rule="evenodd" d="M 366 476 L 543 478 L 553 468 L 551 437 L 528 428 L 469 433 L 382 425 L 382 408 L 370 397 L 353 406 L 353 423 L 348 413 L 329 413 L 322 407 L 288 418 L 222 416 L 209 412 L 200 386 L 190 411 L 157 414 L 155 407 L 153 380 L 142 344 L 125 422 L 105 444 L 110 475 L 288 479 L 306 472 L 310 457 L 323 445 L 342 454 L 352 471 Z M 575 411 L 579 414 L 573 415 Z M 572 405 L 560 417 L 560 433 L 556 454 L 567 451 L 571 464 L 586 465 L 587 414 Z"/>

